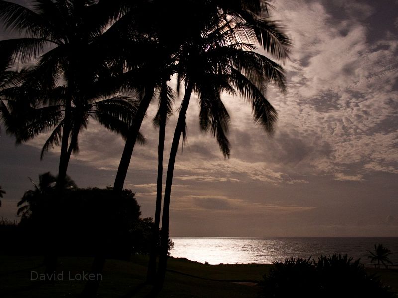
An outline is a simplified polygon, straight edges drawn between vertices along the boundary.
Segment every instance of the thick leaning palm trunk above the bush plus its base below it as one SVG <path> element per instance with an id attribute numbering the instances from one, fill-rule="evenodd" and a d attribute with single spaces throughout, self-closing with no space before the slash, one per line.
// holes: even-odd
<path id="1" fill-rule="evenodd" d="M 154 91 L 153 85 L 145 88 L 144 97 L 141 100 L 141 103 L 138 107 L 137 113 L 134 117 L 134 123 L 130 128 L 129 135 L 124 145 L 123 154 L 120 159 L 119 168 L 117 170 L 115 182 L 113 184 L 113 194 L 116 196 L 123 191 L 124 180 L 126 179 L 127 170 L 130 165 L 131 156 L 134 150 L 134 145 L 137 140 L 137 135 L 140 130 L 142 121 L 144 120 L 146 111 L 151 102 L 153 91 Z M 94 273 L 95 276 L 101 276 L 103 267 L 105 265 L 105 259 L 106 259 L 106 251 L 104 251 L 102 248 L 99 247 L 98 251 L 96 252 L 96 256 L 94 257 L 93 260 L 91 273 Z M 96 297 L 99 286 L 100 286 L 100 279 L 89 280 L 86 283 L 83 292 L 81 293 L 81 297 L 84 298 Z"/>

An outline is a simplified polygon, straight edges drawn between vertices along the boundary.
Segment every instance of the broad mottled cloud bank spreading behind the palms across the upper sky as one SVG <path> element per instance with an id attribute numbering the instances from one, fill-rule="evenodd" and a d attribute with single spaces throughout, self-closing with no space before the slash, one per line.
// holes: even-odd
<path id="1" fill-rule="evenodd" d="M 187 113 L 188 143 L 176 162 L 177 180 L 291 184 L 308 182 L 305 176 L 314 173 L 333 179 L 335 173 L 338 179 L 371 171 L 396 173 L 392 164 L 398 162 L 398 92 L 393 87 L 398 80 L 398 41 L 391 36 L 368 42 L 363 19 L 374 12 L 371 6 L 337 1 L 332 8 L 344 11 L 343 20 L 336 20 L 329 6 L 325 1 L 277 4 L 275 18 L 288 25 L 295 46 L 285 65 L 287 96 L 274 88 L 268 95 L 279 112 L 276 135 L 268 138 L 253 123 L 250 106 L 242 99 L 224 96 L 232 122 L 231 159 L 223 160 L 216 141 L 200 132 L 193 97 Z M 148 143 L 134 149 L 133 169 L 157 167 L 157 130 L 150 121 L 155 111 L 153 104 L 142 125 Z M 165 163 L 175 121 L 176 116 L 167 128 Z M 74 158 L 98 169 L 117 169 L 124 146 L 120 137 L 91 121 L 80 139 L 81 153 Z M 42 143 L 39 138 L 31 144 Z"/>

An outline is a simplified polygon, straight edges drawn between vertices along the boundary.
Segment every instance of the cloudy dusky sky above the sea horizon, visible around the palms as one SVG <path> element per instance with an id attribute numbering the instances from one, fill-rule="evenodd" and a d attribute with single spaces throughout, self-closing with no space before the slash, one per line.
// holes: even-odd
<path id="1" fill-rule="evenodd" d="M 231 157 L 224 159 L 215 139 L 200 132 L 193 98 L 188 142 L 175 165 L 171 236 L 398 236 L 398 1 L 273 5 L 294 43 L 284 63 L 287 93 L 271 86 L 267 94 L 279 115 L 276 133 L 269 137 L 253 122 L 243 99 L 224 96 L 231 115 Z M 125 181 L 143 217 L 155 210 L 156 108 L 148 110 L 147 142 L 136 146 Z M 175 123 L 172 117 L 167 126 L 165 168 Z M 0 216 L 16 218 L 16 203 L 32 188 L 28 177 L 57 173 L 58 149 L 39 160 L 45 139 L 15 146 L 3 129 Z M 68 174 L 79 187 L 112 185 L 123 146 L 91 121 Z"/>

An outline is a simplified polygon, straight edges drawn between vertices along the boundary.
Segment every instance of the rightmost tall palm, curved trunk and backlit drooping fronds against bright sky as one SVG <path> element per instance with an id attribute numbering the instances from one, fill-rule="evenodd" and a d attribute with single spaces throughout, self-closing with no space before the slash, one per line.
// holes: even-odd
<path id="1" fill-rule="evenodd" d="M 268 82 L 274 82 L 285 90 L 283 69 L 276 62 L 253 50 L 250 42 L 256 39 L 256 24 L 245 22 L 243 17 L 228 18 L 221 11 L 212 23 L 207 23 L 200 35 L 186 43 L 179 57 L 179 78 L 185 83 L 185 93 L 174 132 L 169 164 L 167 168 L 166 189 L 162 216 L 162 253 L 159 262 L 159 287 L 162 287 L 167 266 L 167 240 L 169 236 L 169 208 L 175 158 L 181 135 L 185 134 L 185 115 L 192 92 L 199 95 L 200 126 L 210 130 L 216 137 L 224 157 L 229 157 L 227 131 L 229 115 L 221 101 L 221 93 L 239 93 L 250 101 L 254 119 L 269 134 L 273 132 L 276 111 L 264 96 Z M 268 40 L 264 48 L 274 57 L 287 57 L 286 49 L 290 41 L 282 28 L 272 24 L 268 30 Z M 271 32 L 270 32 L 271 31 Z M 266 34 L 267 31 L 262 31 Z M 271 35 L 271 36 L 270 36 Z M 254 38 L 253 38 L 254 36 Z M 261 38 L 262 40 L 264 37 Z"/>

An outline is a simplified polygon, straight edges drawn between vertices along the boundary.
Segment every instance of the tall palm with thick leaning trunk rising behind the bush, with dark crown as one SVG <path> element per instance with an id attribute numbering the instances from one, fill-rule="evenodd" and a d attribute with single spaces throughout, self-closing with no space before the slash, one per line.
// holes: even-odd
<path id="1" fill-rule="evenodd" d="M 128 39 L 139 40 L 134 49 L 133 55 L 126 53 L 127 64 L 138 68 L 137 75 L 132 81 L 136 88 L 142 90 L 143 99 L 137 110 L 129 136 L 124 146 L 116 173 L 113 190 L 120 192 L 123 189 L 124 180 L 127 175 L 131 156 L 135 146 L 135 139 L 141 127 L 145 113 L 153 98 L 156 89 L 160 89 L 162 80 L 169 80 L 175 74 L 175 64 L 178 60 L 181 45 L 183 45 L 193 32 L 200 32 L 200 28 L 208 20 L 206 16 L 206 5 L 201 0 L 143 0 L 138 2 L 132 9 L 126 8 L 124 1 L 121 1 L 123 12 L 132 24 L 121 28 L 120 31 L 129 32 Z M 116 4 L 120 4 L 117 2 Z M 126 12 L 127 11 L 127 12 Z M 194 13 L 180 13 L 180 11 L 193 11 Z M 165 26 L 167 24 L 167 26 Z M 184 24 L 183 26 L 181 24 Z M 178 34 L 169 28 L 178 28 Z M 131 34 L 132 33 L 132 34 Z M 126 37 L 126 34 L 122 34 Z M 139 54 L 136 53 L 138 50 Z M 135 59 L 139 58 L 141 63 Z M 141 80 L 140 80 L 141 78 Z M 131 81 L 130 81 L 131 82 Z"/>

